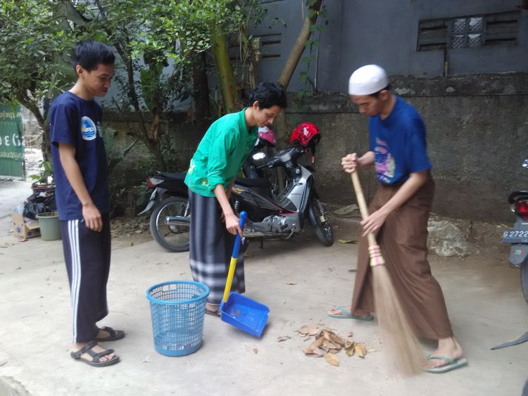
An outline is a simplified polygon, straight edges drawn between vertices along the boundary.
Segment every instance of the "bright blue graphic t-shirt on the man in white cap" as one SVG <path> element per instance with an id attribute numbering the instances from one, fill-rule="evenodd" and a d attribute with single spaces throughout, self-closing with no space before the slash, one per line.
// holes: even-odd
<path id="1" fill-rule="evenodd" d="M 411 172 L 431 169 L 422 117 L 399 96 L 385 120 L 369 118 L 369 136 L 377 179 L 383 184 L 403 183 Z"/>

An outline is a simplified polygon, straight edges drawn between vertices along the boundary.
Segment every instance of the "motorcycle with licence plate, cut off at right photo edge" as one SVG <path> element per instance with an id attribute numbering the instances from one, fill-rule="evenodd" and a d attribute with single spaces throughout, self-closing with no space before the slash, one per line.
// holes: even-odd
<path id="1" fill-rule="evenodd" d="M 528 169 L 528 158 L 522 162 Z M 520 280 L 524 300 L 528 303 L 528 191 L 514 191 L 508 197 L 515 213 L 513 231 L 504 231 L 503 243 L 510 243 L 510 267 L 520 269 Z"/>

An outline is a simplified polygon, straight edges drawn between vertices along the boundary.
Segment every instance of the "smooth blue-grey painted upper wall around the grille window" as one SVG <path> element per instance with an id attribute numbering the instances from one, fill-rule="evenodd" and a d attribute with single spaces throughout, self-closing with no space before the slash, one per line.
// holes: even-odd
<path id="1" fill-rule="evenodd" d="M 271 17 L 284 20 L 251 30 L 252 34 L 281 34 L 280 58 L 262 59 L 259 78 L 276 80 L 302 23 L 304 1 L 277 0 L 265 3 Z M 444 72 L 444 51 L 417 51 L 420 20 L 454 18 L 487 13 L 518 11 L 520 0 L 327 0 L 326 23 L 320 33 L 317 63 L 310 64 L 310 77 L 320 91 L 346 92 L 348 77 L 362 65 L 377 63 L 389 75 L 438 77 Z M 306 54 L 305 54 L 306 55 Z M 482 46 L 449 49 L 448 75 L 473 73 L 522 72 L 528 70 L 528 11 L 521 12 L 517 46 Z M 299 64 L 289 91 L 304 88 L 298 73 L 306 70 Z"/>

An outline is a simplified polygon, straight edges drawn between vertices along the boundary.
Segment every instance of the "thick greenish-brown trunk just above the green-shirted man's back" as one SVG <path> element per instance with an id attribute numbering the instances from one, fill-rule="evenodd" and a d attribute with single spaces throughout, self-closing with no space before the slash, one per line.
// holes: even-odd
<path id="1" fill-rule="evenodd" d="M 218 72 L 225 113 L 234 113 L 239 110 L 239 94 L 237 84 L 234 81 L 229 52 L 227 51 L 225 33 L 222 27 L 218 25 L 213 29 L 213 54 L 215 56 L 216 71 Z"/>

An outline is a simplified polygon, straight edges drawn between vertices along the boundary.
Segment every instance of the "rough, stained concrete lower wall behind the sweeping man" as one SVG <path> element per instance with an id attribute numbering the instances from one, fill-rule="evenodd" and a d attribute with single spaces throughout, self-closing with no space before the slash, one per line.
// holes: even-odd
<path id="1" fill-rule="evenodd" d="M 528 189 L 528 73 L 446 79 L 396 77 L 394 91 L 422 114 L 436 180 L 433 212 L 464 219 L 508 222 L 508 194 Z M 321 95 L 289 109 L 288 122 L 314 122 L 322 139 L 315 181 L 328 203 L 355 201 L 341 157 L 368 147 L 367 117 L 346 95 Z M 362 171 L 365 190 L 375 190 L 374 170 Z"/>

